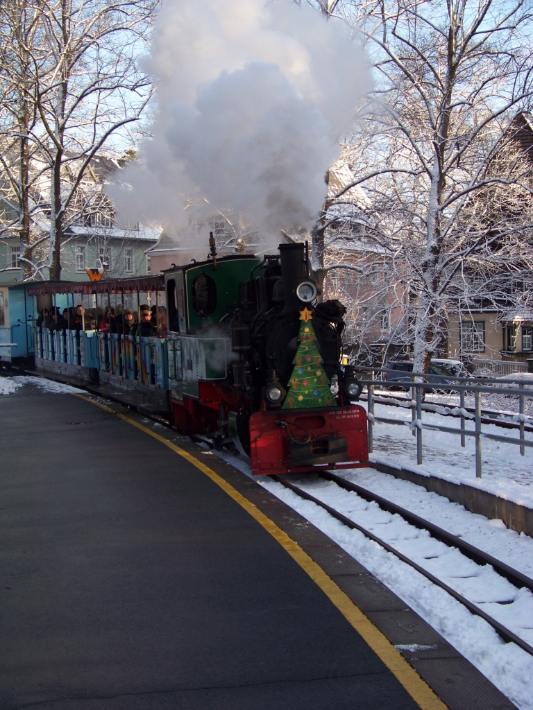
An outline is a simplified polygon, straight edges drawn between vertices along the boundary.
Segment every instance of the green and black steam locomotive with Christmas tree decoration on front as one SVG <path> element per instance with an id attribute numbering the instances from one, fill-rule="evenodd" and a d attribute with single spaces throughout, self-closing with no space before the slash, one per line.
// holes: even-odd
<path id="1" fill-rule="evenodd" d="M 365 410 L 342 365 L 345 307 L 318 302 L 304 244 L 165 272 L 173 420 L 254 475 L 348 468 L 368 459 Z M 360 464 L 359 464 L 360 465 Z"/>

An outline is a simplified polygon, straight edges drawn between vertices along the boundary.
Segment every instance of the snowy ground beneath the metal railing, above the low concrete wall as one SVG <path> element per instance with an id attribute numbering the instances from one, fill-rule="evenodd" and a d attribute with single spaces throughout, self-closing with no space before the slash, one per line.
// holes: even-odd
<path id="1" fill-rule="evenodd" d="M 458 435 L 423 430 L 423 464 L 417 466 L 416 437 L 409 429 L 411 412 L 402 407 L 376 404 L 374 414 L 376 417 L 406 422 L 406 425 L 375 422 L 371 461 L 475 486 L 500 498 L 533 508 L 533 448 L 525 447 L 525 456 L 522 457 L 516 444 L 495 442 L 482 437 L 483 476 L 476 479 L 474 437 L 465 437 L 466 446 L 463 449 Z M 436 413 L 422 413 L 422 422 L 459 428 L 459 420 L 455 417 Z M 473 430 L 473 421 L 467 420 L 465 427 Z M 495 424 L 483 424 L 482 432 L 518 437 L 518 430 L 502 429 Z M 533 441 L 533 434 L 526 433 L 525 438 Z"/>

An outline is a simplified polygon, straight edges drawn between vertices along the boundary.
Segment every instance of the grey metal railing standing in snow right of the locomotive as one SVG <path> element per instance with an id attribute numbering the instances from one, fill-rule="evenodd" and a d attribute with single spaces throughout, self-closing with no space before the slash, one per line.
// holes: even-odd
<path id="1" fill-rule="evenodd" d="M 358 367 L 358 371 L 370 373 L 370 378 L 365 380 L 362 379 L 361 383 L 367 386 L 367 409 L 368 409 L 368 450 L 372 453 L 374 449 L 374 426 L 375 423 L 383 424 L 394 424 L 404 426 L 409 425 L 409 428 L 413 432 L 413 436 L 416 437 L 416 464 L 422 464 L 422 435 L 424 430 L 440 431 L 451 435 L 457 435 L 461 437 L 461 447 L 466 446 L 466 437 L 474 437 L 475 439 L 475 475 L 477 478 L 481 478 L 482 475 L 482 439 L 492 439 L 493 441 L 503 442 L 505 444 L 515 444 L 519 446 L 520 455 L 525 456 L 525 447 L 533 447 L 533 440 L 525 438 L 524 424 L 525 422 L 533 422 L 533 417 L 527 417 L 524 414 L 524 400 L 525 398 L 533 398 L 533 390 L 527 390 L 525 388 L 524 380 L 521 379 L 506 379 L 505 384 L 515 385 L 515 387 L 505 387 L 501 386 L 501 381 L 493 380 L 492 378 L 483 378 L 483 384 L 480 378 L 473 377 L 461 377 L 458 379 L 453 376 L 443 376 L 438 375 L 438 382 L 435 376 L 431 376 L 428 373 L 412 372 L 412 373 L 402 373 L 402 380 L 383 380 L 375 378 L 376 373 L 393 373 L 395 376 L 399 375 L 398 370 L 389 370 L 387 368 L 369 368 L 369 367 Z M 411 381 L 407 378 L 411 378 Z M 448 381 L 448 384 L 443 383 Z M 497 386 L 490 386 L 487 384 L 488 381 L 496 381 Z M 391 419 L 389 417 L 377 417 L 374 410 L 374 393 L 376 387 L 399 387 L 406 388 L 411 391 L 411 422 L 406 422 L 405 420 Z M 533 386 L 533 381 L 532 381 Z M 459 394 L 459 412 L 460 412 L 460 426 L 459 427 L 446 427 L 438 424 L 429 424 L 422 421 L 422 400 L 424 399 L 424 393 L 427 391 L 438 389 L 439 391 L 448 391 L 449 393 Z M 474 414 L 470 414 L 465 410 L 465 393 L 472 393 L 475 400 L 475 410 Z M 514 398 L 518 398 L 519 402 L 519 413 L 518 415 L 510 415 L 512 420 L 517 422 L 517 430 L 519 431 L 519 437 L 505 437 L 497 434 L 490 434 L 488 432 L 483 432 L 481 429 L 481 395 L 482 393 L 492 393 L 492 394 L 504 394 L 510 395 Z M 503 414 L 503 413 L 502 413 Z M 474 428 L 467 429 L 466 421 L 474 419 Z"/>

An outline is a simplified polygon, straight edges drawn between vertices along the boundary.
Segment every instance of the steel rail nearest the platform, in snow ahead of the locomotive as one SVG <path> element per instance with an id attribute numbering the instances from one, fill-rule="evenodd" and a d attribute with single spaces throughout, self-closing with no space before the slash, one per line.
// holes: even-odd
<path id="1" fill-rule="evenodd" d="M 461 604 L 463 604 L 463 606 L 468 608 L 468 611 L 475 614 L 475 616 L 483 618 L 483 620 L 490 624 L 490 626 L 492 626 L 492 628 L 500 635 L 500 637 L 506 643 L 515 643 L 517 646 L 519 646 L 519 648 L 522 648 L 522 650 L 526 651 L 530 655 L 533 655 L 533 647 L 530 646 L 527 641 L 522 640 L 522 638 L 517 636 L 513 631 L 506 628 L 499 621 L 496 621 L 495 618 L 492 618 L 492 616 L 483 611 L 483 609 L 481 609 L 477 604 L 473 603 L 469 599 L 466 599 L 465 596 L 459 594 L 459 592 L 453 589 L 451 586 L 448 586 L 446 582 L 443 582 L 441 579 L 438 579 L 438 577 L 436 577 L 434 574 L 428 572 L 427 569 L 424 569 L 424 567 L 421 567 L 421 565 L 417 564 L 412 559 L 409 559 L 409 557 L 407 557 L 407 555 L 404 555 L 403 552 L 399 552 L 399 550 L 396 550 L 394 547 L 392 547 L 392 545 L 389 545 L 388 542 L 385 542 L 380 537 L 377 537 L 377 535 L 374 535 L 374 533 L 370 532 L 370 530 L 363 528 L 362 525 L 359 525 L 353 520 L 350 520 L 350 518 L 348 518 L 346 515 L 343 515 L 343 513 L 339 513 L 339 511 L 335 510 L 335 508 L 328 506 L 328 503 L 323 503 L 323 501 L 320 501 L 318 498 L 311 496 L 311 493 L 303 491 L 301 488 L 298 488 L 298 486 L 295 486 L 290 481 L 287 481 L 286 479 L 283 479 L 280 476 L 270 476 L 270 478 L 276 481 L 277 483 L 280 483 L 282 486 L 285 486 L 285 488 L 289 488 L 289 490 L 293 491 L 301 498 L 305 498 L 307 501 L 311 501 L 311 503 L 315 503 L 317 506 L 320 506 L 324 510 L 327 510 L 328 513 L 333 516 L 333 518 L 337 518 L 337 520 L 340 520 L 341 523 L 347 525 L 348 528 L 352 528 L 352 530 L 359 530 L 359 532 L 362 532 L 362 534 L 368 537 L 370 540 L 372 540 L 373 542 L 377 542 L 377 544 L 383 547 L 384 550 L 387 550 L 387 552 L 392 552 L 392 554 L 396 555 L 396 557 L 401 559 L 402 562 L 409 564 L 410 567 L 416 569 L 416 572 L 420 572 L 420 574 L 423 574 L 426 579 L 429 579 L 429 581 L 433 582 L 433 584 L 436 584 L 436 586 L 439 586 L 441 587 L 441 589 L 448 592 L 450 596 L 453 596 L 453 599 L 456 599 L 456 601 L 459 601 Z"/>

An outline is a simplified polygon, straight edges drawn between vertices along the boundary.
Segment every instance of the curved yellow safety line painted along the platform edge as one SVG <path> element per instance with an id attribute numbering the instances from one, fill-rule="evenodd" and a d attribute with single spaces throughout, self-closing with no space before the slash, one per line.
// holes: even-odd
<path id="1" fill-rule="evenodd" d="M 139 422 L 126 417 L 126 415 L 116 412 L 106 405 L 96 402 L 95 400 L 85 397 L 85 395 L 75 395 L 80 399 L 86 400 L 92 404 L 97 405 L 107 412 L 114 414 L 119 417 L 119 419 L 128 422 L 132 426 L 141 430 L 145 434 L 148 434 L 154 439 L 157 439 L 161 444 L 164 444 L 173 452 L 179 454 L 183 459 L 193 464 L 197 469 L 200 469 L 203 474 L 209 476 L 209 478 L 222 488 L 228 496 L 233 498 L 239 506 L 244 508 L 244 510 L 252 515 L 252 518 L 257 520 L 259 525 L 262 525 L 267 532 L 269 532 L 272 537 L 274 537 L 281 547 L 286 550 L 286 552 L 291 555 L 295 562 L 297 562 L 300 567 L 313 579 L 313 581 L 318 584 L 322 589 L 324 594 L 328 596 L 328 599 L 335 604 L 340 613 L 347 619 L 347 621 L 352 625 L 353 628 L 359 633 L 366 643 L 372 648 L 372 650 L 379 656 L 379 658 L 384 662 L 387 668 L 394 674 L 394 676 L 399 680 L 402 686 L 407 690 L 412 699 L 418 704 L 421 710 L 448 710 L 448 707 L 439 699 L 436 694 L 431 690 L 429 685 L 424 679 L 422 679 L 419 674 L 414 670 L 414 668 L 409 665 L 407 660 L 400 654 L 400 652 L 394 648 L 394 645 L 390 643 L 387 637 L 375 626 L 370 619 L 365 616 L 365 614 L 360 610 L 360 608 L 350 599 L 350 597 L 343 592 L 340 587 L 335 584 L 333 579 L 325 574 L 324 570 L 313 560 L 309 555 L 302 550 L 302 548 L 291 540 L 291 537 L 286 534 L 281 528 L 279 528 L 273 520 L 270 520 L 264 513 L 261 512 L 253 503 L 247 498 L 242 496 L 233 486 L 227 483 L 222 476 L 219 476 L 212 471 L 209 466 L 203 464 L 202 461 L 198 461 L 191 454 L 186 452 L 184 449 L 176 446 L 172 442 L 165 439 L 156 432 L 153 432 L 148 427 L 144 427 Z"/>

